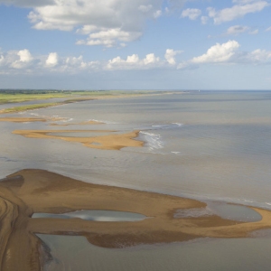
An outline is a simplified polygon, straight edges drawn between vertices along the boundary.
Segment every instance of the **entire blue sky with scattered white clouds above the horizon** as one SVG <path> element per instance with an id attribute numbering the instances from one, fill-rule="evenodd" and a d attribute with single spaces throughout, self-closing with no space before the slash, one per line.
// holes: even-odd
<path id="1" fill-rule="evenodd" d="M 271 0 L 0 0 L 0 89 L 271 89 Z"/>

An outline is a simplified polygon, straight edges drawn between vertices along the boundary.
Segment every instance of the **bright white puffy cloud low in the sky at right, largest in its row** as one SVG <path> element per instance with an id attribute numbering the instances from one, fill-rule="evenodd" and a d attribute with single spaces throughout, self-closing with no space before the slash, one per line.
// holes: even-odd
<path id="1" fill-rule="evenodd" d="M 225 43 L 216 43 L 210 47 L 210 49 L 199 57 L 192 59 L 194 63 L 211 63 L 211 62 L 225 62 L 234 55 L 239 47 L 239 43 L 236 41 L 229 41 Z"/>

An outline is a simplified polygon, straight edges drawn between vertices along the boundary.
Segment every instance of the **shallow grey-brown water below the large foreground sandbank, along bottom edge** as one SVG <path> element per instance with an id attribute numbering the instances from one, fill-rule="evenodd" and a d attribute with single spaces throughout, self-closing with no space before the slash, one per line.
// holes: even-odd
<path id="1" fill-rule="evenodd" d="M 171 245 L 98 248 L 83 237 L 38 235 L 51 248 L 46 271 L 270 270 L 271 239 L 203 238 Z"/>

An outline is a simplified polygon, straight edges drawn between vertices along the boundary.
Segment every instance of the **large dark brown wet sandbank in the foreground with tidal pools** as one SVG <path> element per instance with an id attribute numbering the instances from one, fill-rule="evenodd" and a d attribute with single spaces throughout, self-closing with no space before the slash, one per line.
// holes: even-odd
<path id="1" fill-rule="evenodd" d="M 89 176 L 91 182 L 91 176 Z M 256 210 L 262 220 L 239 222 L 217 215 L 174 218 L 176 210 L 205 208 L 201 201 L 154 192 L 80 182 L 43 170 L 22 170 L 0 182 L 0 268 L 41 270 L 48 257 L 41 234 L 80 235 L 103 248 L 169 243 L 194 238 L 246 238 L 271 227 L 271 211 Z M 146 220 L 101 222 L 80 219 L 32 219 L 33 213 L 73 210 L 119 210 L 140 213 Z"/>

